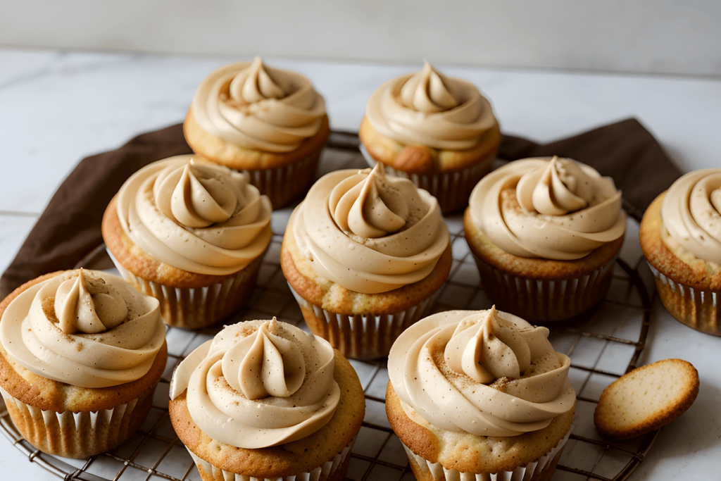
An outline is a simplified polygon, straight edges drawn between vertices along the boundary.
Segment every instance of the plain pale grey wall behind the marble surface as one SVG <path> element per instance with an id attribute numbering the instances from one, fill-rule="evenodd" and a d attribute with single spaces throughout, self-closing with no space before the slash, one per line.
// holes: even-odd
<path id="1" fill-rule="evenodd" d="M 719 0 L 0 5 L 0 46 L 721 76 Z"/>

